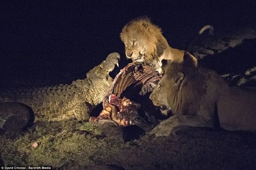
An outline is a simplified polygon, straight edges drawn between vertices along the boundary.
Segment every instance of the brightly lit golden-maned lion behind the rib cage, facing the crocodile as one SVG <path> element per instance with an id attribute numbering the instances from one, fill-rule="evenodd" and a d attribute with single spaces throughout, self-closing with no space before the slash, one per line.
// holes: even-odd
<path id="1" fill-rule="evenodd" d="M 213 28 L 206 25 L 199 34 L 206 29 Z M 183 60 L 185 51 L 170 47 L 161 29 L 153 25 L 148 18 L 130 21 L 123 27 L 120 37 L 125 44 L 127 58 L 137 62 L 152 63 L 159 73 L 162 73 L 161 61 L 163 59 Z"/>

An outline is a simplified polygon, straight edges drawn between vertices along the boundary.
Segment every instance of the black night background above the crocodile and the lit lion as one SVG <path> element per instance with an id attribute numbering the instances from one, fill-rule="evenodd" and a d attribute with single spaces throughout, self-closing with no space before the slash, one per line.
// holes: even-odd
<path id="1" fill-rule="evenodd" d="M 184 49 L 198 30 L 255 27 L 255 1 L 1 1 L 0 88 L 69 84 L 111 52 L 128 62 L 119 38 L 131 19 L 148 16 L 169 45 Z"/>

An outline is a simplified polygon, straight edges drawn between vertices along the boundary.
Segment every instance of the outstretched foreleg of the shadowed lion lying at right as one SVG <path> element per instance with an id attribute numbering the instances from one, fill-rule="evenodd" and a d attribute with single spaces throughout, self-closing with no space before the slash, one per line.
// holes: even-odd
<path id="1" fill-rule="evenodd" d="M 213 127 L 213 121 L 202 115 L 174 115 L 157 125 L 150 134 L 155 136 L 170 136 L 174 127 L 186 125 L 192 127 Z"/>

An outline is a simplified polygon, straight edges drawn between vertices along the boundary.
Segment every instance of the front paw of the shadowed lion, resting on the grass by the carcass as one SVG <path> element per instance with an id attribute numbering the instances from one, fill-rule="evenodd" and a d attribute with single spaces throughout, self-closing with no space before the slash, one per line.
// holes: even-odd
<path id="1" fill-rule="evenodd" d="M 170 136 L 172 130 L 173 126 L 171 124 L 162 122 L 152 129 L 149 134 L 154 134 L 155 136 Z"/>

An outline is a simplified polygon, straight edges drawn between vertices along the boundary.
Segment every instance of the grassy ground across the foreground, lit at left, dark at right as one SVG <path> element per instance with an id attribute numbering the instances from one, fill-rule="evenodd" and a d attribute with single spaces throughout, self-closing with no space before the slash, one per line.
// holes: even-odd
<path id="1" fill-rule="evenodd" d="M 100 134 L 89 122 L 44 123 L 12 139 L 2 136 L 1 159 L 5 165 L 52 165 L 56 169 L 96 164 L 125 169 L 256 168 L 255 134 L 197 129 L 180 136 L 146 135 L 127 143 Z M 33 148 L 33 142 L 38 147 Z"/>

